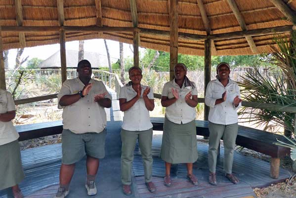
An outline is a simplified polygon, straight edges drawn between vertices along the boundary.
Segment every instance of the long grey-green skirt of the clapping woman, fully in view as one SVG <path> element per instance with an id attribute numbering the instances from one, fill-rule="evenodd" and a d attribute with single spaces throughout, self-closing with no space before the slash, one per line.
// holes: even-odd
<path id="1" fill-rule="evenodd" d="M 197 160 L 195 120 L 175 124 L 165 118 L 160 157 L 169 163 L 193 163 Z"/>

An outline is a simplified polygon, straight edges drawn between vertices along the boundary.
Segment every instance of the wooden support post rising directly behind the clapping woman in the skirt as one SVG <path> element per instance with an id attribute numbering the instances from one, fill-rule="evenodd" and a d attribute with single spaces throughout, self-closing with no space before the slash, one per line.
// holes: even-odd
<path id="1" fill-rule="evenodd" d="M 169 80 L 174 79 L 174 66 L 178 63 L 178 0 L 170 0 L 169 10 Z"/>

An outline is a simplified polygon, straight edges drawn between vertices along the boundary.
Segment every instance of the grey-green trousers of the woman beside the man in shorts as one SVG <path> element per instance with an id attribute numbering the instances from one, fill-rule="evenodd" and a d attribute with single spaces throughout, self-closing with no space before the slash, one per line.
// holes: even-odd
<path id="1" fill-rule="evenodd" d="M 124 185 L 131 184 L 131 166 L 133 161 L 133 151 L 138 140 L 141 150 L 145 182 L 152 181 L 152 164 L 151 154 L 152 147 L 152 128 L 146 131 L 127 131 L 121 130 L 122 150 L 121 150 L 121 181 Z"/>

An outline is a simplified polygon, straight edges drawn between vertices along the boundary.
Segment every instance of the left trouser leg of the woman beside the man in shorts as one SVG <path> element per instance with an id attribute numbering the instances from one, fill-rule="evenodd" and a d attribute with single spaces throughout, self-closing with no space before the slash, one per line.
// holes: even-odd
<path id="1" fill-rule="evenodd" d="M 124 185 L 131 184 L 131 165 L 133 161 L 133 150 L 136 145 L 138 133 L 126 130 L 121 131 L 121 181 Z"/>

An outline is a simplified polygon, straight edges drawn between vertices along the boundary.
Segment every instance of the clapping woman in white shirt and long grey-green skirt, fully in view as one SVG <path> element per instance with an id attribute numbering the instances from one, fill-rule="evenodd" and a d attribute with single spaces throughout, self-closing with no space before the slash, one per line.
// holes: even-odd
<path id="1" fill-rule="evenodd" d="M 161 103 L 166 107 L 161 158 L 166 162 L 165 186 L 170 186 L 171 164 L 186 163 L 187 179 L 194 185 L 193 162 L 198 158 L 196 142 L 195 107 L 197 89 L 187 77 L 183 63 L 174 66 L 175 78 L 164 85 Z"/>

